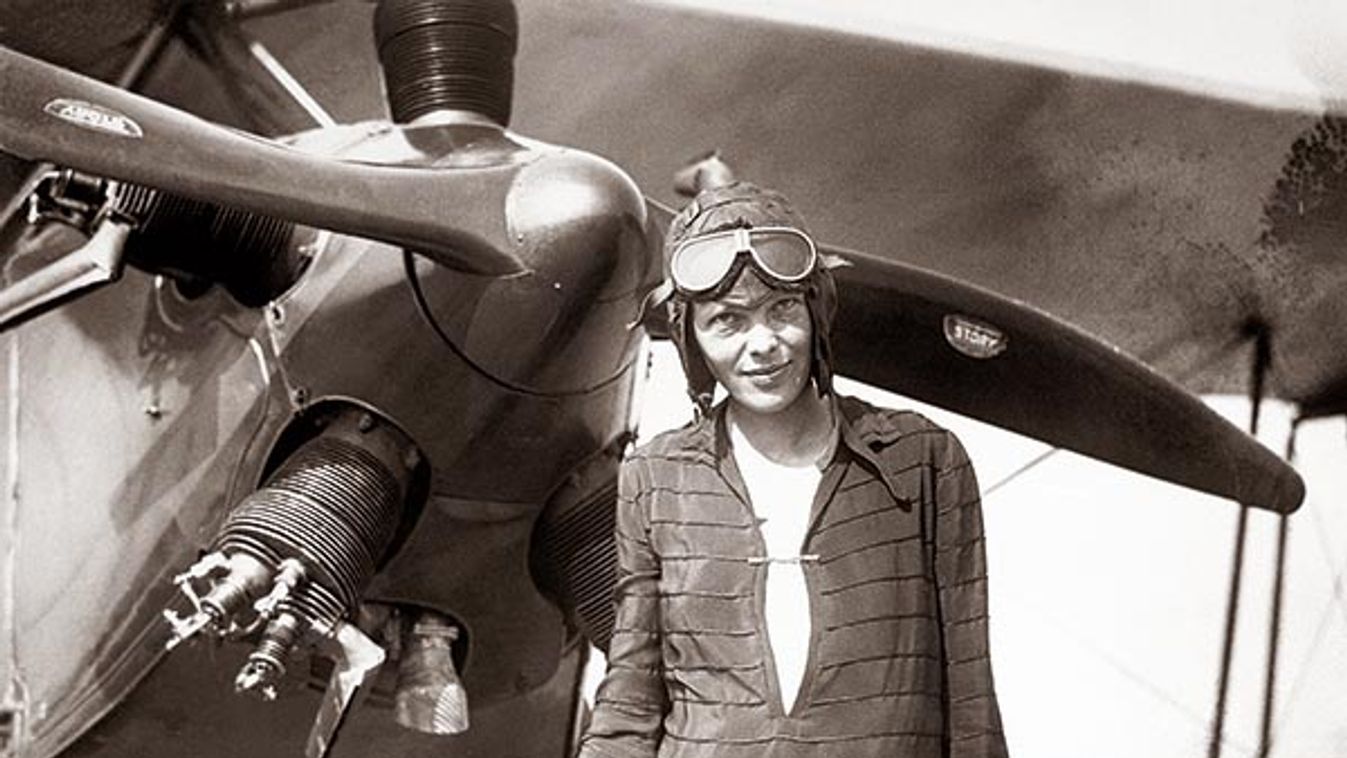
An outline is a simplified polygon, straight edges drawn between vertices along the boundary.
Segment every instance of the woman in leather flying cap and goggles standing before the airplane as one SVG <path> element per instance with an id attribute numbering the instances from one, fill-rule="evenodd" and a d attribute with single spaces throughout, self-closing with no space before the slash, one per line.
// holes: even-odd
<path id="1" fill-rule="evenodd" d="M 1004 755 L 959 442 L 832 392 L 834 261 L 781 195 L 702 193 L 665 260 L 698 419 L 622 464 L 582 758 Z"/>

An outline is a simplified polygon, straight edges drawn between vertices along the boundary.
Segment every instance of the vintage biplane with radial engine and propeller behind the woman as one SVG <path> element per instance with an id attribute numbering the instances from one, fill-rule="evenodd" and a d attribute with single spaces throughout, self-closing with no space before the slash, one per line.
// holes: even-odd
<path id="1" fill-rule="evenodd" d="M 845 376 L 1241 514 L 1304 485 L 1196 393 L 1347 408 L 1317 100 L 605 0 L 0 13 L 9 754 L 567 754 L 707 151 L 850 263 Z"/>

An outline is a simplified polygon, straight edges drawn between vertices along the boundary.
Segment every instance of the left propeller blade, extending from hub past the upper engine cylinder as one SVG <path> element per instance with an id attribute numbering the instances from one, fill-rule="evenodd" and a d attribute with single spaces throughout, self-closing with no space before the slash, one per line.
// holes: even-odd
<path id="1" fill-rule="evenodd" d="M 0 151 L 392 242 L 470 273 L 527 269 L 492 223 L 519 170 L 509 162 L 447 170 L 307 155 L 5 47 L 0 82 Z"/>

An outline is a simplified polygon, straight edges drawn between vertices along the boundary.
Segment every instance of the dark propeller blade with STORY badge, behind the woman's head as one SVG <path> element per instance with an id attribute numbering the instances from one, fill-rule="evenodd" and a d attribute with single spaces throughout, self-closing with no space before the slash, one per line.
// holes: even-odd
<path id="1" fill-rule="evenodd" d="M 1286 462 L 1146 365 L 1025 303 L 893 260 L 827 250 L 839 374 L 1150 477 L 1290 513 Z"/>

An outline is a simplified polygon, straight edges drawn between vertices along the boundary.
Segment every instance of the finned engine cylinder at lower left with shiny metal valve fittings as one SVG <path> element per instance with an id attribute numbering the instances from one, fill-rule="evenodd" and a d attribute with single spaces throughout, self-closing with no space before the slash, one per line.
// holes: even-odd
<path id="1" fill-rule="evenodd" d="M 166 613 L 170 648 L 201 631 L 255 641 L 236 689 L 275 697 L 290 652 L 338 644 L 377 668 L 383 653 L 356 618 L 374 572 L 412 529 L 427 466 L 395 424 L 331 404 L 291 425 L 280 462 L 225 517 L 210 549 L 176 583 L 195 613 Z M 346 649 L 349 648 L 349 650 Z M 350 677 L 346 677 L 348 680 Z"/>

